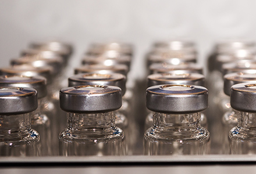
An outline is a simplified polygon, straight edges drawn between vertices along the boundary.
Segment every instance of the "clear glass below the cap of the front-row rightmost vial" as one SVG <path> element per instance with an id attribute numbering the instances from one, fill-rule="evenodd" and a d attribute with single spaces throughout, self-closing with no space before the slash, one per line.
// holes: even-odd
<path id="1" fill-rule="evenodd" d="M 237 111 L 237 126 L 229 132 L 231 154 L 256 154 L 256 113 Z"/>

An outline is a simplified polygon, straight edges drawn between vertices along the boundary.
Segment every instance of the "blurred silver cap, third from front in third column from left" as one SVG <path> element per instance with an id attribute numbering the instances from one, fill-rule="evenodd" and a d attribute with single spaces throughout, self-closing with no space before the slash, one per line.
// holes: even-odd
<path id="1" fill-rule="evenodd" d="M 154 63 L 150 66 L 150 74 L 157 73 L 168 73 L 173 70 L 183 70 L 187 73 L 199 73 L 202 74 L 202 67 L 195 63 L 185 63 L 185 64 L 165 64 L 165 63 Z"/>

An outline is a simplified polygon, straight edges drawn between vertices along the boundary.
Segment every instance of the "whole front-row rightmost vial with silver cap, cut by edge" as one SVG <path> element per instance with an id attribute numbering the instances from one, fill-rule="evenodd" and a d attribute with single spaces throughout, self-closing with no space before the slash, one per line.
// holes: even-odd
<path id="1" fill-rule="evenodd" d="M 230 104 L 237 110 L 237 126 L 229 132 L 231 154 L 256 153 L 256 84 L 236 84 L 230 91 Z"/>

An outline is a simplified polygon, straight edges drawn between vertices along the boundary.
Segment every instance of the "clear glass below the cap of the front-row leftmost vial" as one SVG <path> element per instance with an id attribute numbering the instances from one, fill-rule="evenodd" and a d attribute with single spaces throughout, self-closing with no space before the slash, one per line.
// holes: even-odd
<path id="1" fill-rule="evenodd" d="M 0 156 L 41 155 L 40 136 L 31 129 L 30 113 L 0 115 L 0 125 Z"/>

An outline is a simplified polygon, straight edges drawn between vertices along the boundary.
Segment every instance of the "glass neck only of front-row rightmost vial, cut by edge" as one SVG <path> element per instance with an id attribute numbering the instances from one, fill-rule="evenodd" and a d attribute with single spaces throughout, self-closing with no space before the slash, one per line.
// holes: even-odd
<path id="1" fill-rule="evenodd" d="M 256 113 L 237 111 L 237 126 L 246 131 L 256 131 Z"/>

